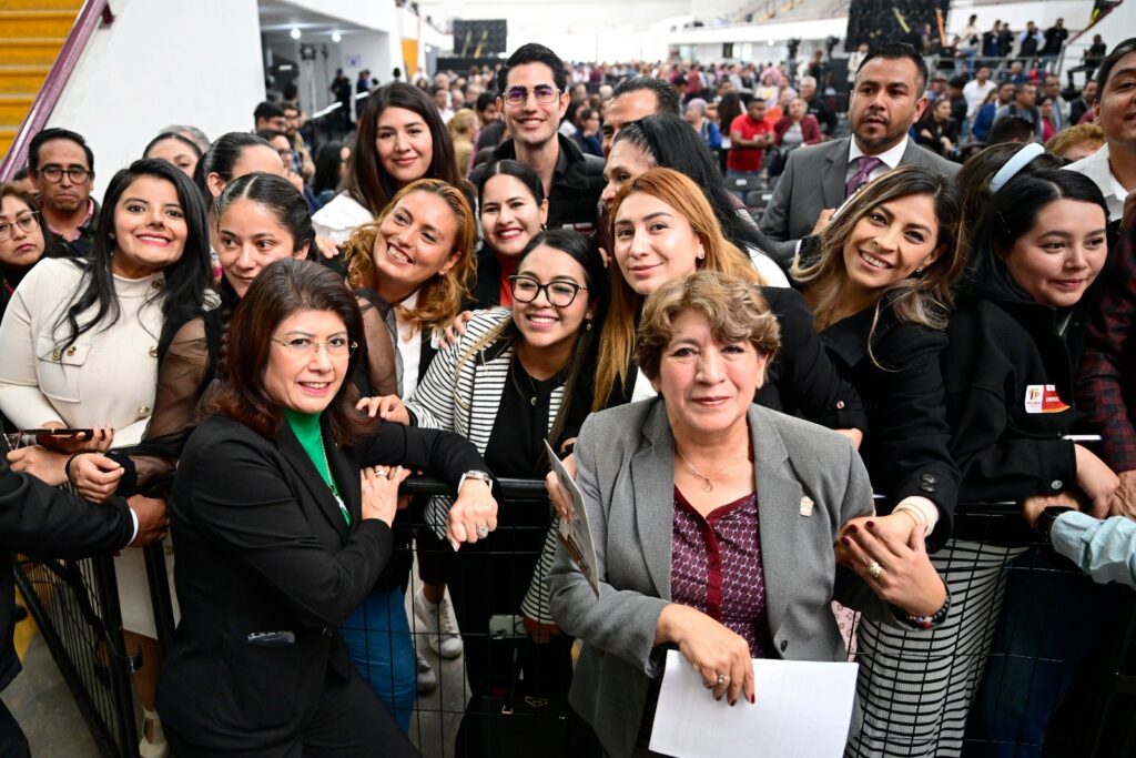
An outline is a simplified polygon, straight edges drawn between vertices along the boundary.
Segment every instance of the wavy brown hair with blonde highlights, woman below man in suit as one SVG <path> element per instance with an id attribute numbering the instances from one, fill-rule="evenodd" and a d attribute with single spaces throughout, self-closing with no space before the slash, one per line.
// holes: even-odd
<path id="1" fill-rule="evenodd" d="M 938 224 L 936 249 L 939 256 L 925 270 L 883 288 L 876 293 L 876 319 L 884 302 L 899 320 L 933 330 L 946 328 L 954 305 L 951 286 L 967 265 L 962 201 L 954 181 L 918 166 L 894 168 L 850 199 L 820 233 L 820 256 L 808 264 L 797 259 L 791 274 L 808 285 L 818 328 L 822 316 L 840 300 L 849 281 L 844 245 L 864 216 L 885 202 L 912 195 L 930 195 Z M 875 320 L 872 322 L 875 330 Z"/>

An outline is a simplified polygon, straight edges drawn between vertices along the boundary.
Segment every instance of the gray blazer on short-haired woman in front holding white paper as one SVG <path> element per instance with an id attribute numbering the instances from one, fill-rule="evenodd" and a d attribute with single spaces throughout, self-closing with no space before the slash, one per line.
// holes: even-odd
<path id="1" fill-rule="evenodd" d="M 849 440 L 751 406 L 766 611 L 774 655 L 845 660 L 835 598 L 896 624 L 886 602 L 846 568 L 833 542 L 847 519 L 871 513 L 871 485 Z M 569 699 L 615 757 L 630 756 L 648 682 L 662 673 L 654 633 L 670 601 L 675 443 L 660 398 L 593 414 L 576 444 L 600 598 L 561 550 L 549 577 L 552 616 L 582 640 Z M 809 515 L 802 498 L 812 499 Z M 758 697 L 761 697 L 760 693 Z"/>

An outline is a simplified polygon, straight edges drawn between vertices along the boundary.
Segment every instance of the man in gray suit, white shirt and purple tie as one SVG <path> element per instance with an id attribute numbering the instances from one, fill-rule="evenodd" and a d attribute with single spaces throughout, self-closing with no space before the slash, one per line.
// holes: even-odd
<path id="1" fill-rule="evenodd" d="M 885 44 L 860 64 L 849 100 L 852 136 L 797 148 L 761 217 L 761 231 L 777 240 L 787 265 L 801 239 L 827 222 L 845 198 L 896 166 L 924 166 L 954 176 L 958 164 L 925 150 L 908 136 L 927 107 L 927 65 L 909 44 Z"/>

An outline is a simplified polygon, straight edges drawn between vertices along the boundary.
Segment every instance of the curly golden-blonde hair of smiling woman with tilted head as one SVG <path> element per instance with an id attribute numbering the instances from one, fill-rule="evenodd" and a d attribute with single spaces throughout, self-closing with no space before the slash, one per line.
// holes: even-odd
<path id="1" fill-rule="evenodd" d="M 373 258 L 375 239 L 378 236 L 378 230 L 386 217 L 402 202 L 403 198 L 414 192 L 436 194 L 453 211 L 458 222 L 458 231 L 450 255 L 458 253 L 458 261 L 444 275 L 435 274 L 418 288 L 417 307 L 398 306 L 398 314 L 400 319 L 419 328 L 443 328 L 449 326 L 454 316 L 461 313 L 462 301 L 469 298 L 469 290 L 477 273 L 477 260 L 474 257 L 477 226 L 466 195 L 441 180 L 423 178 L 408 184 L 399 190 L 376 220 L 352 232 L 344 245 L 343 257 L 348 269 L 348 284 L 352 289 L 378 290 L 377 272 Z"/>

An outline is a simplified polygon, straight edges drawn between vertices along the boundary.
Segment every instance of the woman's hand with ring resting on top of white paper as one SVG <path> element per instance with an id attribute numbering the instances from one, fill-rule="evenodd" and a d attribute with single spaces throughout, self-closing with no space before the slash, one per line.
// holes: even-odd
<path id="1" fill-rule="evenodd" d="M 715 700 L 726 695 L 733 706 L 744 694 L 751 703 L 755 702 L 750 644 L 741 634 L 700 610 L 673 602 L 659 614 L 654 642 L 678 645 L 678 651 L 702 676 L 702 683 L 713 691 Z"/>

